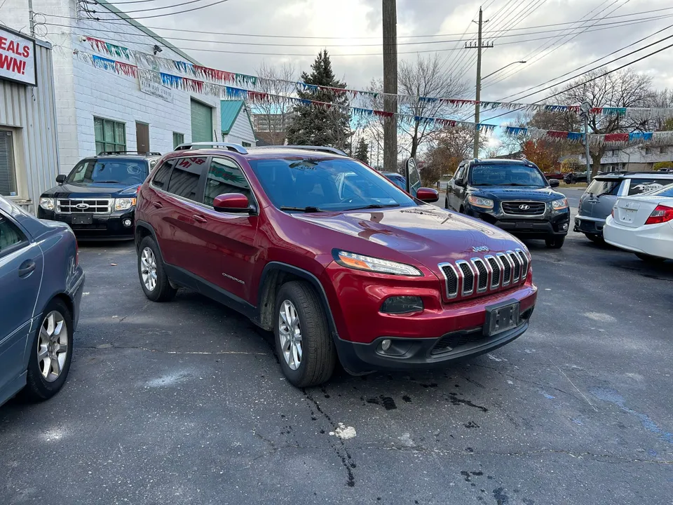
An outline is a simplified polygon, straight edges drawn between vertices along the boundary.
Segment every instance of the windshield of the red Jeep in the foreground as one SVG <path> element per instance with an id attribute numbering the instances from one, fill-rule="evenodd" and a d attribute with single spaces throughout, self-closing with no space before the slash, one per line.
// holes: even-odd
<path id="1" fill-rule="evenodd" d="M 354 210 L 415 206 L 395 185 L 348 159 L 250 160 L 273 205 L 284 210 Z"/>

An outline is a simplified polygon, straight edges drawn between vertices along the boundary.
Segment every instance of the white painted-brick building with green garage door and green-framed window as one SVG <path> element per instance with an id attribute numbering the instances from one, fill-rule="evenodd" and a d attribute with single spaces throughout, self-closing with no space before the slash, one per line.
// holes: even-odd
<path id="1" fill-rule="evenodd" d="M 27 5 L 5 0 L 1 19 L 26 32 Z M 163 86 L 149 94 L 136 77 L 94 67 L 75 52 L 95 53 L 86 41 L 90 36 L 198 64 L 189 55 L 104 0 L 33 0 L 32 6 L 36 33 L 46 32 L 44 38 L 57 48 L 53 64 L 61 173 L 102 151 L 165 153 L 182 142 L 219 140 L 219 98 Z M 41 25 L 42 20 L 49 24 Z"/>

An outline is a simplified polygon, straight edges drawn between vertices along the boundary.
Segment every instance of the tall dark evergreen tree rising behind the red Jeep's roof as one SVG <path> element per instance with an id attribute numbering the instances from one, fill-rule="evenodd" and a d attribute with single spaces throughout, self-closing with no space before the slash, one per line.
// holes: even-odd
<path id="1" fill-rule="evenodd" d="M 308 85 L 346 88 L 346 83 L 337 80 L 332 72 L 332 62 L 327 50 L 322 50 L 311 65 L 313 72 L 302 72 L 301 80 Z M 303 100 L 315 100 L 336 105 L 347 105 L 346 93 L 311 88 L 297 90 Z M 294 115 L 287 128 L 287 143 L 294 145 L 324 145 L 349 150 L 348 130 L 350 115 L 343 107 L 316 107 L 315 104 L 294 107 Z"/>

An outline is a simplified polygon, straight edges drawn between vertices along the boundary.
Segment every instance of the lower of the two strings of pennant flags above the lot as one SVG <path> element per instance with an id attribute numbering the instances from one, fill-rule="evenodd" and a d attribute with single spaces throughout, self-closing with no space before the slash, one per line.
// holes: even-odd
<path id="1" fill-rule="evenodd" d="M 252 103 L 278 102 L 283 101 L 288 105 L 310 105 L 311 107 L 320 107 L 322 109 L 341 108 L 348 109 L 353 114 L 360 117 L 381 117 L 390 118 L 397 116 L 399 121 L 414 125 L 419 123 L 424 126 L 441 126 L 444 128 L 467 127 L 479 130 L 482 133 L 492 133 L 496 125 L 487 123 L 471 123 L 469 121 L 458 121 L 456 119 L 445 119 L 437 117 L 413 116 L 410 114 L 401 114 L 397 112 L 386 112 L 378 109 L 368 109 L 365 107 L 352 107 L 351 105 L 334 104 L 331 102 L 320 102 L 318 100 L 308 100 L 299 97 L 289 97 L 285 95 L 276 95 L 257 90 L 248 90 L 238 86 L 229 86 L 229 84 L 219 84 L 201 79 L 192 79 L 191 77 L 179 76 L 168 72 L 162 72 L 156 69 L 141 68 L 137 65 L 103 58 L 99 55 L 85 53 L 80 50 L 75 51 L 76 57 L 93 65 L 98 69 L 114 72 L 118 75 L 132 77 L 134 79 L 146 79 L 161 83 L 161 85 L 183 90 L 189 93 L 200 93 L 210 95 L 224 100 L 246 100 Z M 196 74 L 195 74 L 196 76 Z M 231 78 L 231 83 L 239 83 L 241 79 L 236 76 Z M 578 132 L 542 130 L 539 128 L 519 128 L 507 126 L 504 130 L 505 135 L 510 137 L 527 137 L 535 140 L 548 141 L 566 141 L 583 142 L 584 134 Z M 611 133 L 609 135 L 589 135 L 590 144 L 605 144 L 614 142 L 673 142 L 673 132 L 634 132 L 634 133 Z"/>

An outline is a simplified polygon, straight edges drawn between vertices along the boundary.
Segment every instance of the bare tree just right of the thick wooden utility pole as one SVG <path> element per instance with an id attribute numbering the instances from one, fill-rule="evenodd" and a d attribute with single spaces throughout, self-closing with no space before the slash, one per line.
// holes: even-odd
<path id="1" fill-rule="evenodd" d="M 400 62 L 397 80 L 399 93 L 411 97 L 400 101 L 400 112 L 414 117 L 446 117 L 454 112 L 442 100 L 418 100 L 418 97 L 455 98 L 463 96 L 468 90 L 461 76 L 446 72 L 438 54 L 428 58 L 419 56 L 414 62 Z M 402 123 L 401 128 L 410 137 L 409 155 L 412 158 L 423 142 L 430 140 L 441 129 L 421 121 L 413 121 L 412 126 Z"/>

